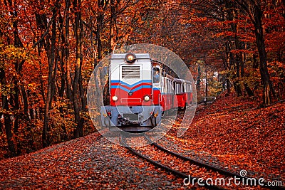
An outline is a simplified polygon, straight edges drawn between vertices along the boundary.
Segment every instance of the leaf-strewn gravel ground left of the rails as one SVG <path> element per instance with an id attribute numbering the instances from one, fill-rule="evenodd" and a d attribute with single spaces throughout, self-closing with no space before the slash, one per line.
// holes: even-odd
<path id="1" fill-rule="evenodd" d="M 190 188 L 96 133 L 1 162 L 0 189 Z"/>

